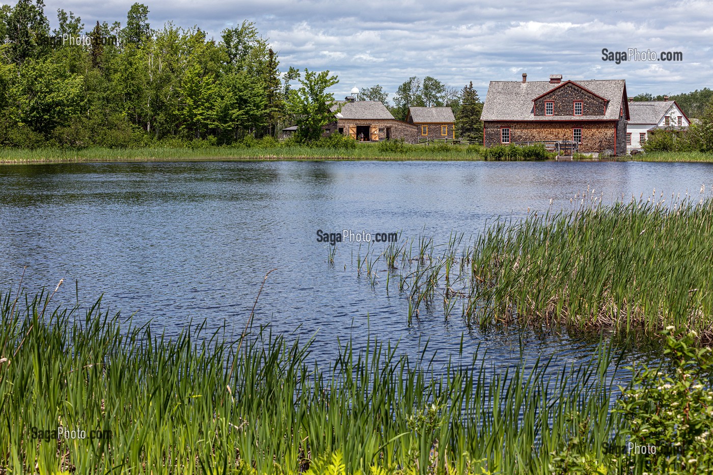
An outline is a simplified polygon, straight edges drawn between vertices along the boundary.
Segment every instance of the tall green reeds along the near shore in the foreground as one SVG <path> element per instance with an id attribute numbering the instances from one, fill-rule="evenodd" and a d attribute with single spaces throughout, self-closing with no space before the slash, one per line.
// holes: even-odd
<path id="1" fill-rule="evenodd" d="M 3 474 L 548 474 L 579 451 L 609 473 L 625 463 L 609 450 L 624 441 L 603 344 L 558 369 L 493 373 L 482 352 L 436 368 L 379 342 L 317 367 L 309 342 L 200 325 L 169 338 L 101 300 L 80 315 L 49 298 L 1 296 Z"/>

